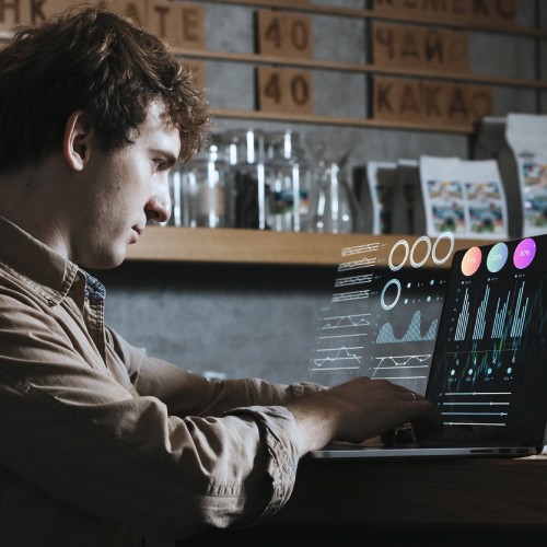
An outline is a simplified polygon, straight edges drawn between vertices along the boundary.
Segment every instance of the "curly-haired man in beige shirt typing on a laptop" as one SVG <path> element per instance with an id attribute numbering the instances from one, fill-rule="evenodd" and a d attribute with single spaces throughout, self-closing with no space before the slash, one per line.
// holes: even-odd
<path id="1" fill-rule="evenodd" d="M 104 325 L 104 288 L 82 268 L 119 265 L 168 218 L 168 171 L 209 121 L 190 81 L 160 40 L 94 8 L 0 53 L 2 547 L 251 525 L 287 501 L 310 450 L 439 428 L 386 382 L 207 382 Z"/>

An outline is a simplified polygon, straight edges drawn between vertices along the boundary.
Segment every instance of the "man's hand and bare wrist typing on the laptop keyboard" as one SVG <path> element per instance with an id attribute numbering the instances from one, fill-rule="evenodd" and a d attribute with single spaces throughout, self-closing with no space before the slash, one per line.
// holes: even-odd
<path id="1" fill-rule="evenodd" d="M 438 411 L 423 397 L 364 376 L 294 400 L 288 408 L 301 431 L 301 455 L 334 440 L 360 442 L 407 422 L 419 435 L 442 430 Z"/>

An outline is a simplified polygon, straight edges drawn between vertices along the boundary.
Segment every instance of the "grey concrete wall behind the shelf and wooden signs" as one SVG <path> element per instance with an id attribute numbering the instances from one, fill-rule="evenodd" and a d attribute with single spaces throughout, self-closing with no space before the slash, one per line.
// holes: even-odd
<path id="1" fill-rule="evenodd" d="M 362 8 L 357 0 L 323 3 Z M 543 27 L 547 4 L 540 4 Z M 535 2 L 520 0 L 519 24 L 535 24 Z M 253 10 L 206 4 L 208 47 L 253 51 Z M 364 24 L 359 20 L 314 16 L 317 58 L 366 61 Z M 470 33 L 474 73 L 534 78 L 547 75 L 546 40 L 542 62 L 534 62 L 533 39 L 492 33 Z M 207 62 L 209 97 L 223 108 L 251 108 L 253 69 L 246 65 Z M 314 75 L 316 112 L 364 116 L 364 77 L 340 72 Z M 538 110 L 539 107 L 539 110 Z M 547 113 L 545 93 L 496 88 L 494 114 Z M 218 128 L 245 124 L 218 120 Z M 255 128 L 284 128 L 255 124 Z M 462 135 L 299 125 L 309 142 L 325 141 L 336 158 L 351 149 L 350 164 L 369 160 L 417 159 L 420 154 L 469 158 Z M 107 323 L 136 346 L 196 372 L 228 376 L 260 376 L 275 382 L 309 379 L 314 331 L 321 306 L 331 293 L 329 268 L 240 267 L 231 265 L 126 264 L 98 272 L 107 286 Z M 408 318 L 400 316 L 408 323 Z"/>

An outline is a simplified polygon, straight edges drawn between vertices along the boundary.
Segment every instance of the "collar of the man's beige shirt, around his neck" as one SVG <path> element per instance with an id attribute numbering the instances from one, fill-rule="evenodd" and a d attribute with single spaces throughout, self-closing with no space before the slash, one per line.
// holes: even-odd
<path id="1" fill-rule="evenodd" d="M 58 304 L 67 296 L 79 272 L 75 264 L 2 217 L 0 265 L 18 277 L 25 277 L 50 305 Z M 86 274 L 84 277 L 89 279 Z"/>

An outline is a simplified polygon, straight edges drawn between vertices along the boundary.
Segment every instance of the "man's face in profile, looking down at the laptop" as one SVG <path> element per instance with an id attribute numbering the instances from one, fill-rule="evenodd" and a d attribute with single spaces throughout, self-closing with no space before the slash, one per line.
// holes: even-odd
<path id="1" fill-rule="evenodd" d="M 114 153 L 93 148 L 69 256 L 83 267 L 118 266 L 148 220 L 170 217 L 168 173 L 181 149 L 179 132 L 165 109 L 152 103 L 133 140 Z"/>

